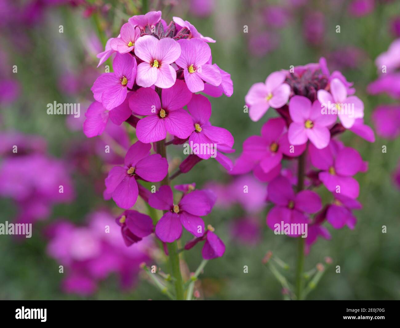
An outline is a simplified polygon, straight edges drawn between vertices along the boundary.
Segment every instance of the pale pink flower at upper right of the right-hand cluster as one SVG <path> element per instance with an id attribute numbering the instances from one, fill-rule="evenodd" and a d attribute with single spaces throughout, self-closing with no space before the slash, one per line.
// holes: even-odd
<path id="1" fill-rule="evenodd" d="M 356 119 L 364 117 L 364 103 L 356 96 L 348 97 L 346 86 L 338 78 L 330 82 L 330 92 L 318 90 L 318 100 L 328 111 L 337 111 L 340 122 L 346 129 L 350 129 Z"/>

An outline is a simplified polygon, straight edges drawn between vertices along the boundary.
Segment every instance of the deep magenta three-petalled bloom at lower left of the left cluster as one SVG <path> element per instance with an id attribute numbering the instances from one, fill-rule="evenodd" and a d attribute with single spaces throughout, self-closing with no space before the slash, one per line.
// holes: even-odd
<path id="1" fill-rule="evenodd" d="M 168 173 L 168 162 L 159 154 L 149 155 L 151 145 L 136 141 L 126 153 L 124 166 L 114 166 L 105 179 L 106 193 L 123 208 L 129 209 L 138 198 L 136 179 L 158 182 Z"/>

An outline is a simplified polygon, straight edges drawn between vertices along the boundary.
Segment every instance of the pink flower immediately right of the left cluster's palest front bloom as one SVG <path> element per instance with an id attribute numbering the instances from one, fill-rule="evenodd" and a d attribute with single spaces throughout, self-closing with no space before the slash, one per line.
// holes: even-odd
<path id="1" fill-rule="evenodd" d="M 220 70 L 207 64 L 211 49 L 206 42 L 199 39 L 178 40 L 181 53 L 176 64 L 183 68 L 186 85 L 191 92 L 204 90 L 204 82 L 218 87 L 222 82 Z"/>

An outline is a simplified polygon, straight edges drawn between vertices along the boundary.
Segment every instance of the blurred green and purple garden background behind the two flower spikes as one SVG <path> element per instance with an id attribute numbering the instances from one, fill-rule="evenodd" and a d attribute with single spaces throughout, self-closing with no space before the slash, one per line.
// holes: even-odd
<path id="1" fill-rule="evenodd" d="M 290 65 L 318 62 L 321 56 L 326 57 L 331 71 L 338 69 L 347 80 L 354 81 L 356 95 L 364 101 L 364 119 L 372 127 L 374 109 L 380 104 L 396 103 L 386 95 L 368 95 L 366 87 L 378 76 L 375 58 L 400 37 L 398 0 L 155 0 L 145 4 L 149 10 L 162 10 L 167 23 L 172 16 L 182 17 L 204 36 L 217 41 L 210 44 L 213 62 L 231 74 L 234 93 L 229 98 L 210 98 L 212 124 L 232 133 L 237 154 L 244 139 L 258 134 L 266 118 L 276 115 L 270 110 L 257 123 L 250 121 L 243 113 L 248 89 L 271 72 L 289 69 Z M 104 72 L 103 65 L 96 68 L 96 54 L 103 51 L 109 37 L 118 35 L 122 23 L 141 13 L 141 6 L 142 2 L 136 0 L 0 0 L 2 161 L 12 145 L 18 144 L 18 152 L 40 153 L 48 160 L 60 161 L 61 166 L 57 172 L 49 173 L 54 165 L 46 162 L 47 169 L 34 157 L 11 165 L 10 171 L 18 177 L 17 195 L 14 199 L 0 198 L 0 223 L 24 221 L 25 215 L 32 212 L 39 213 L 37 216 L 42 219 L 35 219 L 30 239 L 0 235 L 0 299 L 164 298 L 136 270 L 138 263 L 149 257 L 153 259 L 149 264 L 158 263 L 163 268 L 166 265 L 162 254 L 151 240 L 146 241 L 144 249 L 127 252 L 112 221 L 112 214 L 119 215 L 121 211 L 112 201 L 102 198 L 104 177 L 112 163 L 106 163 L 101 152 L 109 140 L 88 139 L 82 132 L 84 112 L 92 101 L 90 87 Z M 336 33 L 337 25 L 340 33 Z M 248 26 L 248 33 L 244 26 Z M 14 65 L 17 72 L 13 72 Z M 81 117 L 47 115 L 47 104 L 54 101 L 80 103 Z M 108 132 L 113 136 L 112 131 Z M 121 131 L 115 135 L 118 133 Z M 398 167 L 400 140 L 376 136 L 375 143 L 368 143 L 350 131 L 341 139 L 369 162 L 368 172 L 356 177 L 360 183 L 358 200 L 364 207 L 356 211 L 358 222 L 354 230 L 335 230 L 326 225 L 332 239 L 319 239 L 312 246 L 306 256 L 306 270 L 325 256 L 330 256 L 333 264 L 309 298 L 399 299 L 400 192 L 393 174 Z M 386 153 L 382 153 L 382 145 L 387 146 Z M 168 147 L 170 159 L 179 163 L 183 158 L 181 148 Z M 35 171 L 38 166 L 41 172 Z M 38 203 L 26 208 L 27 199 L 34 202 L 37 191 L 15 201 L 20 195 L 19 183 L 29 179 L 41 185 L 49 174 L 54 175 L 56 185 L 58 180 L 68 180 L 64 182 L 70 184 L 64 199 L 52 199 L 44 190 L 43 197 L 49 201 L 41 209 L 36 208 Z M 218 206 L 206 222 L 212 223 L 224 240 L 226 253 L 207 264 L 198 286 L 201 297 L 282 299 L 281 286 L 262 264 L 262 258 L 272 250 L 293 268 L 296 241 L 276 236 L 266 226 L 266 185 L 254 180 L 252 190 L 256 191 L 241 199 L 240 179 L 243 177 L 232 179 L 210 159 L 174 180 L 196 182 L 199 187 L 214 185 L 220 190 Z M 246 181 L 248 184 L 250 178 Z M 104 226 L 102 222 L 110 222 L 111 229 L 117 232 L 110 240 L 93 238 L 96 224 Z M 386 225 L 387 233 L 382 233 L 382 225 Z M 82 240 L 74 250 L 81 258 L 78 264 L 60 254 L 68 243 L 68 229 L 77 229 L 74 240 Z M 54 231 L 59 232 L 58 240 L 54 240 Z M 189 238 L 184 235 L 184 240 Z M 99 253 L 100 249 L 103 253 Z M 88 252 L 98 256 L 96 261 Z M 135 268 L 126 263 L 130 257 Z M 184 258 L 190 271 L 194 271 L 201 262 L 200 246 L 185 252 Z M 60 265 L 64 265 L 63 274 L 59 273 Z M 337 265 L 340 274 L 335 272 Z M 243 272 L 244 266 L 248 266 L 248 273 Z M 71 276 L 71 272 L 83 272 L 84 276 L 90 270 L 96 276 L 95 283 L 93 279 Z M 65 276 L 69 281 L 64 280 Z M 76 286 L 80 286 L 79 293 Z"/>

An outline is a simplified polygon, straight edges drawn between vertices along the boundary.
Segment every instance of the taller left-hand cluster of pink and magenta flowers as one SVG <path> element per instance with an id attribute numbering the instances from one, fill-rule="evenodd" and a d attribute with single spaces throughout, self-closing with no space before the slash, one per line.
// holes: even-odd
<path id="1" fill-rule="evenodd" d="M 213 42 L 181 18 L 167 24 L 157 11 L 130 18 L 98 54 L 99 66 L 113 58 L 114 71 L 94 82 L 95 101 L 85 114 L 83 131 L 87 137 L 102 135 L 109 119 L 112 125 L 126 122 L 135 128 L 137 141 L 126 151 L 122 165 L 108 172 L 104 191 L 105 199 L 112 198 L 125 209 L 116 222 L 128 246 L 154 232 L 168 255 L 167 243 L 179 239 L 184 227 L 196 242 L 206 241 L 204 259 L 224 254 L 224 243 L 201 218 L 212 210 L 214 193 L 195 189 L 194 183 L 176 185 L 182 192 L 177 200 L 170 187 L 174 177 L 201 160 L 215 158 L 226 169 L 233 167 L 221 152 L 234 152 L 234 139 L 226 129 L 212 125 L 211 103 L 199 94 L 230 97 L 233 93 L 230 74 L 212 62 L 208 43 Z M 184 152 L 188 157 L 169 177 L 173 164 L 168 163 L 166 146 L 172 144 L 189 145 L 190 153 Z M 158 190 L 152 183 L 160 183 Z M 164 215 L 150 217 L 133 210 L 139 196 Z"/>

